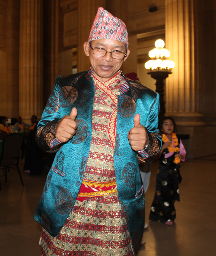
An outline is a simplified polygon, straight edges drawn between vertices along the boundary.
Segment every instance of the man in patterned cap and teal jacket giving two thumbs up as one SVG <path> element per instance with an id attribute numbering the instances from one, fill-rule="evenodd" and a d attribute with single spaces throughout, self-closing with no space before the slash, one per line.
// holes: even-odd
<path id="1" fill-rule="evenodd" d="M 127 29 L 101 7 L 84 51 L 90 70 L 57 78 L 38 124 L 38 144 L 57 152 L 35 214 L 42 255 L 133 256 L 145 212 L 137 158 L 160 149 L 159 96 L 122 75 Z"/>

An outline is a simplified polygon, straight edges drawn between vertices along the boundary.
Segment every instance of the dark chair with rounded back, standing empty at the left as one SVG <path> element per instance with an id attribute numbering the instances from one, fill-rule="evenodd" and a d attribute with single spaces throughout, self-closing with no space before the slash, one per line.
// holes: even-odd
<path id="1" fill-rule="evenodd" d="M 7 182 L 7 172 L 10 172 L 11 169 L 15 169 L 19 173 L 19 178 L 24 186 L 22 181 L 22 176 L 19 171 L 19 152 L 22 146 L 23 137 L 18 133 L 12 133 L 6 136 L 3 139 L 2 146 L 2 156 L 0 158 L 0 167 L 3 168 L 5 183 Z M 0 186 L 1 190 L 1 186 Z"/>

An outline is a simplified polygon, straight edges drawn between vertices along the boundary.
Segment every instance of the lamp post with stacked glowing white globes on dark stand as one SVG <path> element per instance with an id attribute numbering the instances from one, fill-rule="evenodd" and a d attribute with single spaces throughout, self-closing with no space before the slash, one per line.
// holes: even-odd
<path id="1" fill-rule="evenodd" d="M 156 79 L 156 92 L 160 95 L 160 113 L 159 118 L 165 115 L 165 100 L 164 100 L 164 81 L 169 74 L 172 74 L 172 68 L 175 67 L 173 61 L 168 60 L 170 52 L 164 48 L 164 41 L 158 39 L 155 42 L 155 47 L 149 52 L 151 60 L 145 63 L 145 68 L 149 71 L 147 74 Z"/>

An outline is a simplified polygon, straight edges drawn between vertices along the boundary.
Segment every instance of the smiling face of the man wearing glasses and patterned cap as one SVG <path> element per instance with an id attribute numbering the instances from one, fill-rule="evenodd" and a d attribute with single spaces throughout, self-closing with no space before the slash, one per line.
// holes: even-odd
<path id="1" fill-rule="evenodd" d="M 93 74 L 100 81 L 105 82 L 109 78 L 112 78 L 118 70 L 121 68 L 123 62 L 127 59 L 130 49 L 127 49 L 127 56 L 124 59 L 114 59 L 111 57 L 111 53 L 114 50 L 120 52 L 126 52 L 126 44 L 124 42 L 114 39 L 97 39 L 91 41 L 92 48 L 103 48 L 107 51 L 107 54 L 103 57 L 93 54 L 89 42 L 84 43 L 84 51 L 86 56 L 89 56 L 90 63 L 93 69 Z"/>

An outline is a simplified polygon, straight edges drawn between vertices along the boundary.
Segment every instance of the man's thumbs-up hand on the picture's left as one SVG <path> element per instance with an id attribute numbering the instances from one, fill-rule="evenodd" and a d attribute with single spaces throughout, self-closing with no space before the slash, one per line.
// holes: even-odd
<path id="1" fill-rule="evenodd" d="M 77 116 L 76 107 L 73 107 L 70 115 L 64 116 L 60 122 L 57 123 L 55 129 L 55 136 L 60 142 L 67 142 L 76 133 L 77 123 L 75 121 Z"/>

